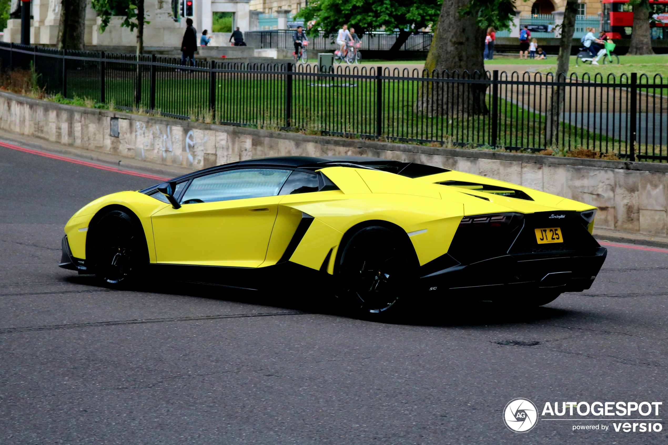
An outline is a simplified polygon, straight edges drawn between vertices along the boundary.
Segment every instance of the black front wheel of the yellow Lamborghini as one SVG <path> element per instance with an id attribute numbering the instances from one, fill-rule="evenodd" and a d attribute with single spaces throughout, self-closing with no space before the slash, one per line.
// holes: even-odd
<path id="1" fill-rule="evenodd" d="M 146 237 L 127 211 L 108 211 L 93 228 L 92 259 L 98 280 L 118 288 L 137 282 L 148 264 Z"/>

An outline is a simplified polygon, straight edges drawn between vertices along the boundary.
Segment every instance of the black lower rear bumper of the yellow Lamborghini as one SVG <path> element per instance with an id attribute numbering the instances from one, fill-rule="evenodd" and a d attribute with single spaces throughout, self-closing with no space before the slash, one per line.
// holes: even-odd
<path id="1" fill-rule="evenodd" d="M 591 287 L 606 256 L 605 248 L 590 255 L 504 255 L 425 274 L 420 289 L 468 300 L 503 300 L 526 292 L 580 292 Z"/>

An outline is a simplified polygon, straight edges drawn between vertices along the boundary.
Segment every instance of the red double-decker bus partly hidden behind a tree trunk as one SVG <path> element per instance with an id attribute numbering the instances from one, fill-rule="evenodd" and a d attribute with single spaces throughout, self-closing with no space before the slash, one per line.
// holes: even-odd
<path id="1" fill-rule="evenodd" d="M 603 31 L 611 39 L 631 39 L 633 6 L 629 0 L 601 0 L 603 3 Z M 649 0 L 653 11 L 650 17 L 652 39 L 668 39 L 668 0 Z"/>

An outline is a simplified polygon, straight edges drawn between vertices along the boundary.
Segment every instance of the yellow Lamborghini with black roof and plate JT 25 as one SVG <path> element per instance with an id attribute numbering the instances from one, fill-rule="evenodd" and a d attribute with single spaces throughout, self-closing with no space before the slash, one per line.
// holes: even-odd
<path id="1" fill-rule="evenodd" d="M 370 314 L 424 298 L 540 306 L 595 280 L 607 254 L 595 215 L 417 163 L 269 157 L 92 201 L 67 222 L 59 266 L 108 286 L 151 268 L 248 289 L 289 277 Z"/>

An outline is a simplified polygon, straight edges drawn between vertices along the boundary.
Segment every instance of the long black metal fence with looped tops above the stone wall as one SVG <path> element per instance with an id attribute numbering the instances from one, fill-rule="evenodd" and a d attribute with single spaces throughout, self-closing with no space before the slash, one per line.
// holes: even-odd
<path id="1" fill-rule="evenodd" d="M 635 73 L 427 73 L 248 64 L 0 44 L 4 69 L 30 69 L 51 95 L 179 119 L 407 141 L 668 161 L 668 83 Z M 102 105 L 104 106 L 104 105 Z"/>

